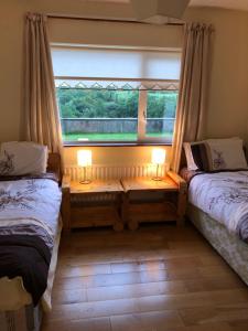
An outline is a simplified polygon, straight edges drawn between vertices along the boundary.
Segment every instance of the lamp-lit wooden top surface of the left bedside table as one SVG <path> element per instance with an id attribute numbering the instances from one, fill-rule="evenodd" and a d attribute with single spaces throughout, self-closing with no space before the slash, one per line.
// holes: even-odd
<path id="1" fill-rule="evenodd" d="M 71 194 L 123 192 L 123 188 L 118 180 L 95 180 L 89 184 L 80 184 L 79 181 L 71 181 L 69 186 Z"/>

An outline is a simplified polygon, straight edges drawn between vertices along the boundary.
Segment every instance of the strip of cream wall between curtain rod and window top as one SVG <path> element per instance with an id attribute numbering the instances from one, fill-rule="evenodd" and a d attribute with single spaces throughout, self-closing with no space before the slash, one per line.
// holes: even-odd
<path id="1" fill-rule="evenodd" d="M 48 30 L 54 43 L 86 45 L 179 49 L 182 46 L 183 36 L 181 26 L 63 19 L 50 19 Z"/>

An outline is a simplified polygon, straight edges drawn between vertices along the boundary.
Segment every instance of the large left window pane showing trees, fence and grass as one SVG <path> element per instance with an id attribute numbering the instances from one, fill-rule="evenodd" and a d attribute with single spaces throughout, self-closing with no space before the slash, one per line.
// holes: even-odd
<path id="1" fill-rule="evenodd" d="M 57 88 L 64 141 L 136 141 L 138 90 Z"/>

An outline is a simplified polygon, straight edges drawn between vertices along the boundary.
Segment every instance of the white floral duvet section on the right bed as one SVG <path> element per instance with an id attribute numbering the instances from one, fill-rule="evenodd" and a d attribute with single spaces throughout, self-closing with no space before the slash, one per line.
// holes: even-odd
<path id="1" fill-rule="evenodd" d="M 188 200 L 237 234 L 240 222 L 248 220 L 248 171 L 196 175 L 190 183 Z"/>

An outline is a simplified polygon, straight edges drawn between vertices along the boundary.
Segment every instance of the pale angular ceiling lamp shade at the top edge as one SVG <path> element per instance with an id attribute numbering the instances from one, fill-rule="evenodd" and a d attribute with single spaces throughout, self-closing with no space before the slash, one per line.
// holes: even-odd
<path id="1" fill-rule="evenodd" d="M 168 18 L 181 19 L 190 0 L 131 0 L 139 20 L 164 23 Z"/>

